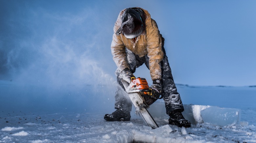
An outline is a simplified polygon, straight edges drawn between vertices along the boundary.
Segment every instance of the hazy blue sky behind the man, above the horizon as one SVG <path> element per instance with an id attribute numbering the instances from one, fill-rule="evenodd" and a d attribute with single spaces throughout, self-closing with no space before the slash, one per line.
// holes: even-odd
<path id="1" fill-rule="evenodd" d="M 0 80 L 57 85 L 115 80 L 119 12 L 148 10 L 178 84 L 256 85 L 256 1 L 0 0 Z M 145 66 L 136 76 L 150 81 Z"/>

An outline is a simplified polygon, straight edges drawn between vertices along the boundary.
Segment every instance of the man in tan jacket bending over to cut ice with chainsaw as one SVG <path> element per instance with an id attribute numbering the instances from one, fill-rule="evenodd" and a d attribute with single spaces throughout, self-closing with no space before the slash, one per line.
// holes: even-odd
<path id="1" fill-rule="evenodd" d="M 150 70 L 153 85 L 150 86 L 153 95 L 162 94 L 166 114 L 170 116 L 169 124 L 179 127 L 190 127 L 190 122 L 182 116 L 184 107 L 180 94 L 173 81 L 171 68 L 164 50 L 164 39 L 158 30 L 156 22 L 149 12 L 142 8 L 126 8 L 119 13 L 114 26 L 111 52 L 117 65 L 117 87 L 115 109 L 112 114 L 106 114 L 108 121 L 129 121 L 132 102 L 124 89 L 121 79 L 128 83 L 136 68 L 143 63 Z M 151 101 L 150 103 L 153 103 Z M 157 110 L 157 109 L 156 109 Z"/>

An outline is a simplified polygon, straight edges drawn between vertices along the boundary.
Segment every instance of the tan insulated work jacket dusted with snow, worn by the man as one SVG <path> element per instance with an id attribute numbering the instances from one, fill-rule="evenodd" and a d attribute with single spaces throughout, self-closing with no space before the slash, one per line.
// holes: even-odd
<path id="1" fill-rule="evenodd" d="M 113 40 L 111 43 L 113 60 L 118 69 L 122 71 L 125 68 L 129 68 L 126 61 L 125 48 L 131 50 L 134 54 L 139 55 L 139 57 L 148 54 L 151 79 L 161 79 L 160 61 L 163 59 L 163 51 L 161 36 L 156 22 L 151 19 L 147 10 L 142 9 L 144 11 L 146 28 L 134 42 L 132 39 L 127 39 L 122 33 L 119 35 L 116 34 L 122 24 L 121 16 L 125 10 L 126 9 L 119 13 L 114 26 Z"/>

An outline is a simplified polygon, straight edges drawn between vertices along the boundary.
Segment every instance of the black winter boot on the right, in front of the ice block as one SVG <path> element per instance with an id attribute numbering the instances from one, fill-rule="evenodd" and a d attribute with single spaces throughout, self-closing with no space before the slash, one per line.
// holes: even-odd
<path id="1" fill-rule="evenodd" d="M 191 126 L 191 123 L 189 120 L 186 120 L 183 115 L 181 114 L 181 111 L 174 110 L 173 112 L 168 114 L 170 116 L 169 118 L 169 124 L 176 125 L 178 127 L 185 127 L 188 128 Z"/>

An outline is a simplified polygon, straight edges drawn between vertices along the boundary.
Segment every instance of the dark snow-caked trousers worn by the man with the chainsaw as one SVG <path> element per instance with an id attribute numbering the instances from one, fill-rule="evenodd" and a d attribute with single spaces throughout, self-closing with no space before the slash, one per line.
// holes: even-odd
<path id="1" fill-rule="evenodd" d="M 166 114 L 176 109 L 183 111 L 184 107 L 181 102 L 181 97 L 173 81 L 172 71 L 163 47 L 162 47 L 162 50 L 164 52 L 164 57 L 163 57 L 163 60 L 160 62 L 160 64 L 161 64 L 161 71 L 162 71 L 161 73 L 162 96 L 165 103 Z M 149 62 L 148 62 L 149 57 L 147 55 L 143 57 L 139 57 L 138 55 L 135 55 L 134 53 L 132 53 L 130 50 L 126 49 L 126 56 L 127 56 L 126 60 L 128 61 L 128 65 L 132 73 L 134 73 L 136 71 L 136 68 L 143 65 L 144 63 L 149 69 Z M 117 91 L 115 95 L 115 100 L 116 100 L 115 109 L 124 109 L 124 110 L 131 111 L 132 102 L 128 97 L 128 94 L 124 91 L 124 87 L 121 82 L 121 77 L 119 75 L 120 75 L 120 70 L 117 69 L 116 76 L 117 76 L 117 83 L 119 86 L 117 87 Z"/>

